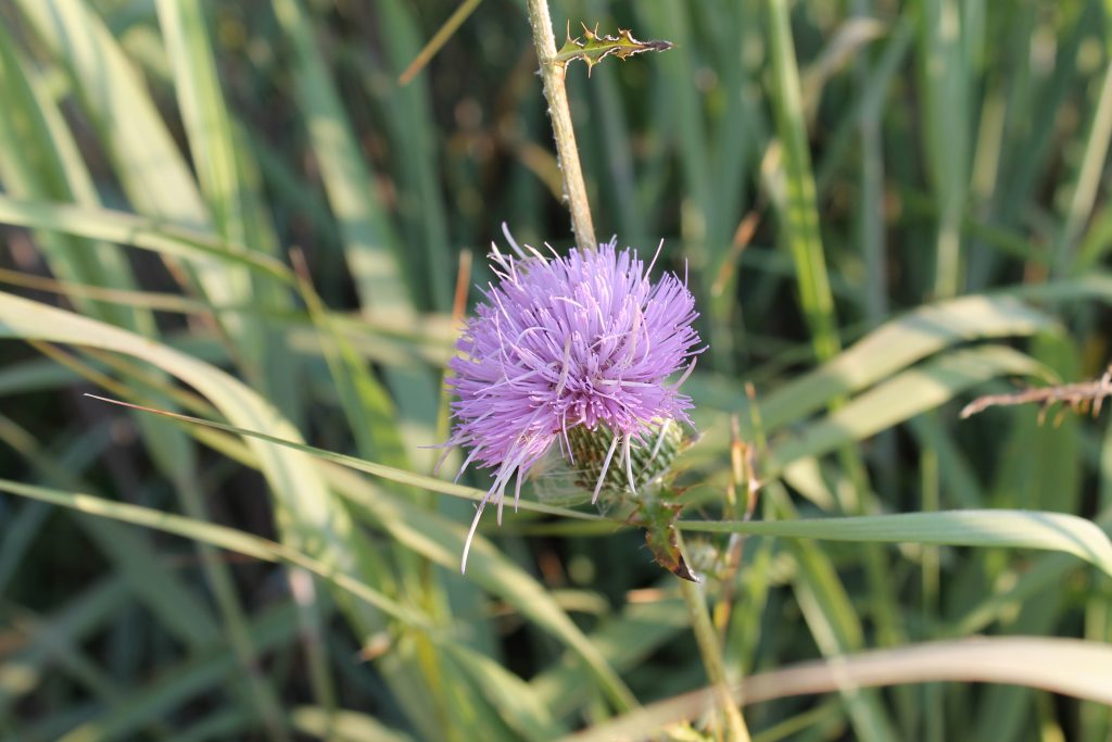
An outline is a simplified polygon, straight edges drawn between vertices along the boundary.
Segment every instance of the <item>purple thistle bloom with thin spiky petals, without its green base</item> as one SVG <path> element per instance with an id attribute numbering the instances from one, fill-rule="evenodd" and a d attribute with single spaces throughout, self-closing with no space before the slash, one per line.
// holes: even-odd
<path id="1" fill-rule="evenodd" d="M 619 443 L 617 464 L 625 462 L 636 492 L 631 443 L 644 443 L 645 434 L 668 421 L 691 422 L 691 398 L 677 390 L 699 352 L 692 327 L 698 313 L 686 278 L 666 274 L 649 281 L 656 257 L 646 269 L 635 250 L 617 251 L 616 238 L 597 251 L 573 248 L 552 259 L 510 244 L 517 258 L 492 245 L 499 281 L 484 290 L 486 300 L 448 363 L 454 376 L 447 384 L 458 400 L 446 445 L 470 448 L 460 474 L 471 462 L 495 469 L 467 534 L 461 570 L 486 504 L 497 503 L 502 524 L 503 496 L 515 474 L 516 508 L 522 477 L 555 442 L 572 458 L 568 429 L 605 425 L 614 433 L 597 498 Z M 685 367 L 675 384 L 665 383 Z"/>

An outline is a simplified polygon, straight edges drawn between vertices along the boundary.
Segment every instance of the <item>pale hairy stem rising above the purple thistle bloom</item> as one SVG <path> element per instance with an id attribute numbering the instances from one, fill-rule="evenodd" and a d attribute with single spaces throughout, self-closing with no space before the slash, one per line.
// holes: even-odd
<path id="1" fill-rule="evenodd" d="M 590 220 L 590 204 L 587 201 L 587 186 L 583 181 L 579 166 L 579 149 L 575 145 L 575 129 L 572 126 L 572 109 L 567 102 L 564 78 L 567 69 L 556 61 L 556 38 L 553 36 L 548 0 L 528 0 L 529 24 L 533 27 L 533 44 L 540 62 L 540 79 L 544 80 L 545 100 L 556 138 L 556 156 L 564 178 L 564 196 L 572 211 L 572 231 L 580 249 L 598 248 L 595 240 L 595 225 Z"/>

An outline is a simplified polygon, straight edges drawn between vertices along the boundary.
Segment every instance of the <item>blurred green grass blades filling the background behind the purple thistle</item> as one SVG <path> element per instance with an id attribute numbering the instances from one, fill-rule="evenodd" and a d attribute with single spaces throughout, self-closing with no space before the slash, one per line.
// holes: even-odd
<path id="1" fill-rule="evenodd" d="M 707 683 L 691 594 L 643 533 L 559 503 L 490 518 L 464 577 L 471 503 L 417 476 L 447 438 L 457 285 L 492 278 L 503 222 L 572 244 L 524 2 L 478 3 L 398 82 L 457 8 L 0 0 L 0 739 L 550 740 Z M 568 89 L 598 237 L 663 238 L 702 311 L 685 517 L 738 515 L 735 421 L 765 521 L 1007 508 L 1108 531 L 1102 418 L 959 410 L 1112 355 L 1112 9 L 552 13 L 560 37 L 675 44 L 573 63 Z M 688 533 L 726 674 L 973 634 L 1112 640 L 1099 532 L 927 523 L 874 531 L 898 546 Z M 1112 729 L 1098 703 L 962 683 L 745 715 L 763 742 Z"/>

